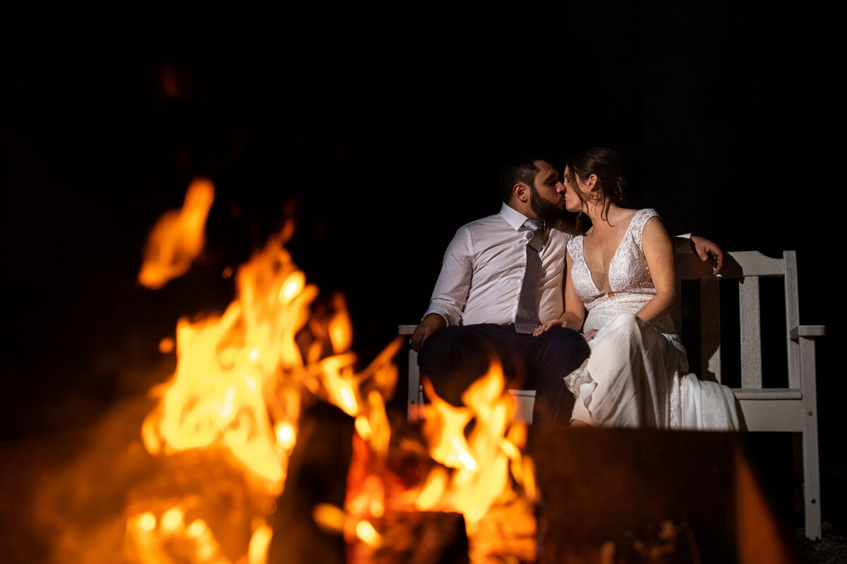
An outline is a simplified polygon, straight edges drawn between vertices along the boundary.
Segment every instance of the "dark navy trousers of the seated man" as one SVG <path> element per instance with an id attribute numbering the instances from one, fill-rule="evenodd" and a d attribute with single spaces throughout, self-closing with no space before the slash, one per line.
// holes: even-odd
<path id="1" fill-rule="evenodd" d="M 418 366 L 439 397 L 460 406 L 462 393 L 488 371 L 491 359 L 498 359 L 507 389 L 535 390 L 533 424 L 567 424 L 574 398 L 563 379 L 589 350 L 581 333 L 565 327 L 533 337 L 513 325 L 449 326 L 424 341 Z"/>

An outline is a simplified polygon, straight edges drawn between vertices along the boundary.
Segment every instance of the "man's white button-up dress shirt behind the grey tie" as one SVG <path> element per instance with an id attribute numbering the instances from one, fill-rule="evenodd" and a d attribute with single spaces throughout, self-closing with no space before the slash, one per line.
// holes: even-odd
<path id="1" fill-rule="evenodd" d="M 447 246 L 429 309 L 448 326 L 514 323 L 518 311 L 529 230 L 528 218 L 505 203 L 500 213 L 459 227 Z M 565 254 L 573 225 L 545 222 L 539 320 L 564 311 Z"/>

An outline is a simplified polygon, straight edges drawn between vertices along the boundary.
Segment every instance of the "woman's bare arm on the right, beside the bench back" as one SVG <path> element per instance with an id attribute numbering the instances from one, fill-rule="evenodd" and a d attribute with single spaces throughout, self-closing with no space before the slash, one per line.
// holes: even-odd
<path id="1" fill-rule="evenodd" d="M 642 233 L 644 249 L 650 278 L 656 287 L 656 295 L 644 304 L 635 315 L 652 322 L 667 313 L 677 298 L 676 275 L 673 270 L 673 243 L 667 235 L 665 226 L 658 217 L 650 217 Z"/>

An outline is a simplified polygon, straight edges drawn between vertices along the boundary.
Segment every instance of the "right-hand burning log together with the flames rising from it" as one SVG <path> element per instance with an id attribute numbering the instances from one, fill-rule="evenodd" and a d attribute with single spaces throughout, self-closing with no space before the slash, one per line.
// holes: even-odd
<path id="1" fill-rule="evenodd" d="M 512 425 L 500 376 L 494 367 L 464 408 L 430 390 L 429 424 L 393 419 L 387 457 L 354 437 L 348 562 L 535 560 L 534 481 L 520 456 L 525 428 Z"/>

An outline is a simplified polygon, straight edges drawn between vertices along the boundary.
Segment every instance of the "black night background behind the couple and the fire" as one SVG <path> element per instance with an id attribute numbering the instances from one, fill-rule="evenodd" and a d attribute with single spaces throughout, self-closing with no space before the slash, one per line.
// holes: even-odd
<path id="1" fill-rule="evenodd" d="M 297 265 L 345 294 L 367 362 L 419 319 L 457 227 L 499 209 L 499 151 L 606 145 L 672 233 L 797 251 L 801 321 L 828 326 L 822 511 L 840 522 L 828 14 L 400 6 L 64 4 L 3 21 L 3 438 L 84 425 L 146 389 L 122 367 L 156 365 L 180 315 L 228 304 L 219 272 L 285 216 Z M 139 287 L 148 229 L 196 176 L 217 189 L 202 259 Z"/>

